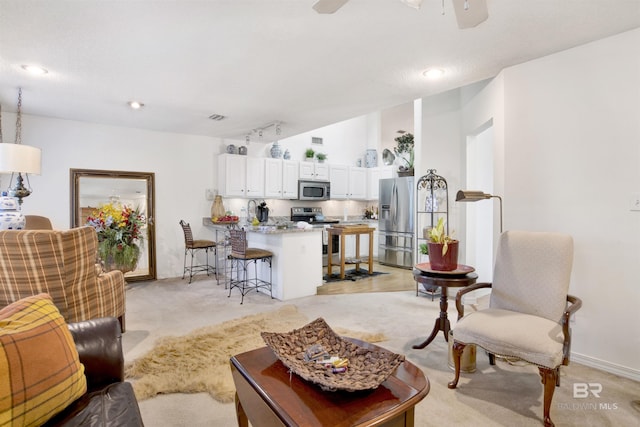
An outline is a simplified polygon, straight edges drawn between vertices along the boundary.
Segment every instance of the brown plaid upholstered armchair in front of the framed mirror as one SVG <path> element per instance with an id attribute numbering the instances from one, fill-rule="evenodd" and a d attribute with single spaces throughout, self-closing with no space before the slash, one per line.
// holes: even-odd
<path id="1" fill-rule="evenodd" d="M 92 227 L 0 231 L 0 308 L 47 293 L 68 323 L 116 317 L 124 331 L 124 276 L 103 273 L 97 251 Z"/>

